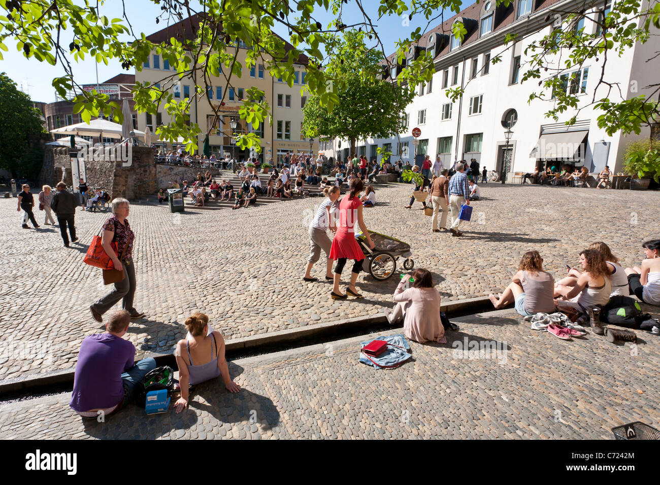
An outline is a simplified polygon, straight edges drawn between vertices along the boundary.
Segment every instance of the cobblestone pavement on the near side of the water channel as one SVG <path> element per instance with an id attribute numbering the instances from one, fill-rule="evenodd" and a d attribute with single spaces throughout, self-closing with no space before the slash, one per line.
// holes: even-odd
<path id="1" fill-rule="evenodd" d="M 660 428 L 660 337 L 638 331 L 636 346 L 591 333 L 564 341 L 512 310 L 455 321 L 447 344 L 410 342 L 413 359 L 397 369 L 358 363 L 358 342 L 381 334 L 365 335 L 230 362 L 240 393 L 215 379 L 182 414 L 147 417 L 131 405 L 105 422 L 83 421 L 69 393 L 2 404 L 1 436 L 612 439 L 626 422 Z M 481 354 L 461 351 L 473 342 Z"/>

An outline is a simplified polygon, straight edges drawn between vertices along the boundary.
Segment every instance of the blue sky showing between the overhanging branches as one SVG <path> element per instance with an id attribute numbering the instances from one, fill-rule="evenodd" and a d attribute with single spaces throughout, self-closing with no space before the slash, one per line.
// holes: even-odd
<path id="1" fill-rule="evenodd" d="M 367 13 L 372 17 L 372 21 L 377 18 L 378 5 L 380 2 L 373 0 L 364 1 L 363 5 L 367 10 Z M 369 7 L 367 7 L 369 5 Z M 469 3 L 466 3 L 463 8 L 467 7 Z M 360 13 L 358 7 L 349 1 L 349 5 L 343 5 L 343 22 L 345 24 L 353 24 L 360 22 L 362 20 L 362 13 Z M 156 32 L 165 26 L 164 22 L 161 21 L 160 24 L 156 24 L 156 16 L 160 15 L 162 11 L 160 6 L 152 3 L 147 0 L 137 0 L 133 2 L 126 2 L 126 13 L 128 15 L 131 24 L 133 25 L 133 30 L 136 35 L 139 36 L 139 32 L 145 32 L 149 35 L 152 32 Z M 121 16 L 121 2 L 117 0 L 108 0 L 100 8 L 100 13 L 106 15 L 110 18 L 116 18 Z M 333 15 L 331 13 L 325 13 L 325 11 L 315 11 L 315 18 L 323 24 L 323 28 L 327 27 L 327 24 L 332 20 Z M 451 13 L 446 11 L 444 18 L 449 18 Z M 387 54 L 391 53 L 394 50 L 395 42 L 399 38 L 406 38 L 410 35 L 415 28 L 418 26 L 424 30 L 426 28 L 427 21 L 419 15 L 418 18 L 413 17 L 413 20 L 408 20 L 407 16 L 404 18 L 399 18 L 392 16 L 389 18 L 383 18 L 378 22 L 376 30 L 383 41 L 383 45 L 387 50 Z M 440 23 L 440 19 L 432 22 L 429 28 L 432 28 Z M 408 24 L 408 25 L 405 25 Z M 275 32 L 282 36 L 283 38 L 288 38 L 288 31 L 286 28 L 279 26 L 275 28 Z M 67 34 L 67 31 L 64 31 L 63 34 Z M 128 37 L 126 40 L 131 40 L 132 38 Z M 64 37 L 62 44 L 68 46 L 71 42 L 69 36 Z M 26 59 L 22 55 L 22 51 L 16 50 L 16 43 L 12 40 L 7 40 L 5 42 L 9 48 L 8 52 L 3 52 L 4 59 L 0 61 L 0 71 L 7 73 L 11 79 L 13 79 L 18 88 L 30 94 L 30 98 L 34 101 L 42 102 L 53 102 L 55 101 L 55 90 L 51 85 L 51 81 L 54 77 L 63 75 L 64 71 L 61 65 L 51 66 L 45 62 L 39 62 L 36 59 Z M 96 82 L 96 62 L 91 59 L 86 59 L 81 63 L 74 65 L 74 77 L 77 82 L 81 84 L 93 84 Z M 119 74 L 119 73 L 135 73 L 133 69 L 131 71 L 123 71 L 119 62 L 110 62 L 107 66 L 103 63 L 98 65 L 98 81 L 103 82 L 106 79 Z"/>

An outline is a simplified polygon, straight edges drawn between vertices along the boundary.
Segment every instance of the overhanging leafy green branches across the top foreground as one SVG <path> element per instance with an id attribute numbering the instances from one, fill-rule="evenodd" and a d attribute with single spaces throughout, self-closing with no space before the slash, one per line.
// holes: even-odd
<path id="1" fill-rule="evenodd" d="M 242 73 L 258 62 L 263 64 L 273 77 L 281 77 L 284 82 L 293 86 L 294 63 L 299 61 L 301 55 L 305 55 L 308 61 L 306 88 L 312 96 L 317 96 L 317 105 L 331 112 L 337 106 L 339 92 L 346 90 L 343 84 L 352 84 L 353 77 L 372 79 L 372 73 L 368 71 L 372 69 L 371 65 L 357 66 L 354 76 L 344 79 L 335 77 L 333 69 L 329 69 L 335 59 L 342 59 L 346 54 L 341 52 L 341 35 L 345 30 L 358 28 L 366 33 L 372 42 L 368 57 L 371 59 L 370 53 L 373 50 L 377 54 L 374 57 L 380 57 L 381 63 L 389 69 L 405 59 L 407 50 L 419 42 L 424 32 L 446 20 L 443 14 L 445 10 L 459 13 L 461 8 L 465 7 L 461 0 L 374 0 L 370 4 L 370 8 L 378 11 L 378 16 L 374 16 L 364 9 L 364 0 L 199 0 L 194 5 L 188 0 L 149 0 L 160 5 L 162 10 L 156 22 L 172 24 L 191 19 L 183 22 L 186 32 L 183 32 L 182 36 L 172 37 L 168 42 L 154 43 L 148 40 L 143 32 L 133 31 L 130 19 L 125 13 L 122 18 L 102 15 L 102 12 L 121 11 L 116 9 L 115 5 L 110 7 L 103 0 L 94 3 L 83 1 L 84 5 L 76 5 L 73 0 L 0 0 L 0 51 L 7 50 L 5 42 L 11 38 L 26 57 L 61 65 L 65 74 L 53 79 L 53 87 L 65 97 L 67 90 L 72 88 L 82 92 L 77 80 L 73 79 L 71 68 L 72 63 L 78 59 L 94 57 L 97 62 L 106 64 L 114 60 L 121 62 L 124 69 L 131 70 L 135 66 L 139 71 L 149 54 L 155 50 L 163 59 L 169 61 L 174 71 L 164 73 L 163 79 L 158 81 L 160 88 L 156 87 L 156 82 L 135 86 L 135 108 L 139 112 L 168 112 L 173 121 L 158 127 L 156 133 L 161 139 L 170 141 L 179 136 L 191 139 L 189 149 L 197 148 L 196 135 L 201 133 L 197 124 L 188 124 L 187 113 L 190 105 L 193 102 L 206 101 L 216 115 L 220 110 L 214 108 L 207 94 L 211 85 L 210 76 L 221 75 L 230 84 L 234 77 L 242 77 Z M 343 7 L 349 2 L 360 10 L 361 15 L 352 16 L 350 19 L 343 17 Z M 512 3 L 512 0 L 496 0 L 498 6 L 504 5 L 508 8 Z M 526 47 L 527 53 L 533 55 L 533 59 L 525 63 L 527 71 L 522 80 L 538 79 L 539 86 L 544 88 L 533 93 L 529 101 L 556 95 L 557 102 L 546 109 L 548 117 L 557 119 L 559 113 L 578 106 L 576 93 L 568 90 L 562 95 L 561 91 L 567 82 L 570 83 L 567 77 L 572 76 L 577 67 L 585 61 L 621 55 L 636 42 L 647 42 L 657 36 L 657 30 L 652 32 L 651 29 L 660 28 L 659 0 L 619 0 L 614 3 L 611 11 L 602 17 L 593 14 L 591 7 L 599 3 L 602 3 L 602 9 L 605 9 L 606 0 L 593 4 L 576 4 L 572 7 L 574 11 L 566 5 L 562 5 L 561 9 L 550 7 L 547 9 L 546 21 L 554 25 L 552 34 L 546 36 L 543 41 L 532 42 Z M 329 13 L 334 20 L 324 26 L 316 20 L 319 11 Z M 394 52 L 388 52 L 389 48 L 385 48 L 385 45 L 389 39 L 383 41 L 383 38 L 389 32 L 379 34 L 375 26 L 386 17 L 401 18 L 402 24 L 405 25 L 406 19 L 413 16 L 423 18 L 425 28 L 422 30 L 418 27 L 407 37 L 400 38 L 395 43 Z M 576 32 L 576 20 L 584 17 L 597 21 L 601 28 L 594 34 Z M 525 21 L 527 20 L 523 20 Z M 286 41 L 275 34 L 275 26 L 283 26 L 288 30 Z M 65 30 L 67 32 L 64 32 Z M 455 22 L 451 29 L 443 33 L 453 33 L 462 41 L 467 29 L 462 22 Z M 71 35 L 73 41 L 69 43 Z M 125 40 L 126 36 L 130 36 L 130 42 Z M 63 41 L 64 38 L 67 40 Z M 502 51 L 512 48 L 513 40 L 515 35 L 508 35 Z M 237 60 L 238 46 L 241 44 L 250 48 L 244 65 Z M 501 53 L 494 53 L 492 56 L 493 63 L 501 59 Z M 648 69 L 658 71 L 659 59 L 657 55 L 651 57 Z M 323 68 L 325 65 L 328 65 L 328 69 Z M 653 96 L 659 94 L 660 83 L 640 86 L 640 90 L 651 90 L 651 94 L 647 92 L 629 96 L 628 86 L 616 85 L 615 82 L 605 79 L 604 73 L 605 69 L 601 71 L 598 85 L 609 88 L 609 91 L 600 98 L 594 94 L 591 100 L 601 112 L 601 127 L 606 127 L 609 133 L 618 130 L 623 133 L 638 133 L 645 125 L 658 121 L 659 104 L 653 100 Z M 417 86 L 428 81 L 431 75 L 432 63 L 429 57 L 420 55 L 410 65 L 405 64 L 403 71 L 397 76 L 397 82 Z M 193 96 L 189 99 L 174 98 L 172 93 L 172 85 L 182 79 L 191 79 L 191 84 L 195 85 Z M 350 89 L 353 88 L 348 86 L 348 90 Z M 461 88 L 449 92 L 454 99 L 462 94 Z M 262 94 L 257 88 L 247 90 L 246 101 L 240 110 L 240 117 L 255 127 L 267 121 L 271 124 L 273 122 L 269 116 L 271 108 L 268 101 L 262 98 Z M 396 98 L 396 93 L 391 96 L 385 93 L 381 97 Z M 224 98 L 219 101 L 224 102 Z M 121 121 L 121 109 L 116 103 L 110 102 L 107 95 L 82 92 L 77 96 L 76 102 L 77 112 L 81 113 L 82 119 L 88 120 L 92 115 L 109 115 L 112 112 L 116 121 Z M 314 132 L 313 127 L 308 127 L 308 131 Z M 253 133 L 239 135 L 237 144 L 241 148 L 255 146 L 258 149 L 259 139 Z"/>

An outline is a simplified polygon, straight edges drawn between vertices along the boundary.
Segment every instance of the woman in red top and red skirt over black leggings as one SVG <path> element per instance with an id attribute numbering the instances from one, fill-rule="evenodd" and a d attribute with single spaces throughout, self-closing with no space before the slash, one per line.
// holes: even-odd
<path id="1" fill-rule="evenodd" d="M 371 249 L 374 249 L 374 242 L 369 236 L 367 226 L 362 220 L 362 201 L 360 201 L 359 194 L 362 191 L 362 180 L 358 178 L 352 179 L 348 185 L 350 192 L 341 199 L 339 203 L 339 224 L 337 224 L 337 233 L 332 240 L 330 247 L 330 259 L 337 261 L 335 266 L 335 286 L 333 287 L 330 296 L 333 299 L 348 298 L 348 295 L 342 294 L 339 290 L 339 281 L 341 280 L 341 272 L 344 269 L 347 259 L 354 259 L 353 269 L 350 274 L 350 284 L 346 292 L 356 298 L 362 298 L 355 288 L 355 282 L 358 280 L 360 268 L 362 268 L 362 260 L 364 254 L 360 245 L 355 240 L 355 226 L 360 226 L 362 234 L 366 236 L 366 242 Z"/>

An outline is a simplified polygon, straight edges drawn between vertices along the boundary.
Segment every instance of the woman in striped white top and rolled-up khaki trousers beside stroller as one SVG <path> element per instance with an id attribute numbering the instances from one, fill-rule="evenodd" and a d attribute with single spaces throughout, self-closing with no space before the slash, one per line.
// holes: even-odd
<path id="1" fill-rule="evenodd" d="M 325 187 L 325 189 L 323 189 L 323 195 L 325 195 L 327 199 L 321 203 L 312 223 L 310 224 L 310 243 L 312 247 L 310 250 L 310 257 L 307 260 L 307 270 L 305 271 L 305 276 L 302 277 L 302 279 L 307 282 L 318 280 L 318 278 L 312 278 L 311 271 L 314 263 L 316 263 L 321 257 L 321 249 L 323 249 L 323 252 L 325 252 L 325 255 L 327 256 L 325 279 L 333 280 L 335 278 L 332 274 L 333 260 L 329 257 L 332 243 L 330 238 L 328 238 L 327 230 L 330 229 L 332 232 L 337 231 L 337 224 L 335 223 L 337 217 L 335 216 L 335 210 L 337 210 L 337 200 L 341 195 L 341 191 L 339 190 L 339 187 Z"/>

